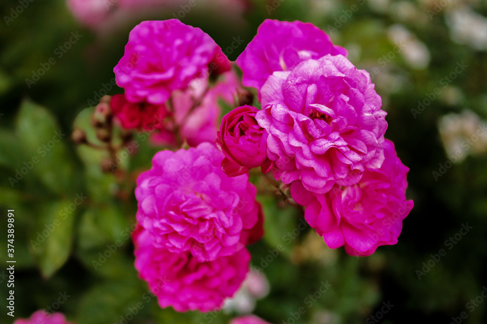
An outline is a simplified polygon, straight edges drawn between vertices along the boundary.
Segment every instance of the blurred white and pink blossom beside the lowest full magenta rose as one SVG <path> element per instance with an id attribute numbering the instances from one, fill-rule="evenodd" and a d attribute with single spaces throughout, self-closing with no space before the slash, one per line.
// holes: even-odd
<path id="1" fill-rule="evenodd" d="M 265 274 L 251 269 L 242 287 L 233 298 L 225 301 L 223 309 L 225 313 L 235 311 L 238 314 L 250 314 L 255 309 L 257 300 L 267 296 L 269 290 L 269 281 Z"/>

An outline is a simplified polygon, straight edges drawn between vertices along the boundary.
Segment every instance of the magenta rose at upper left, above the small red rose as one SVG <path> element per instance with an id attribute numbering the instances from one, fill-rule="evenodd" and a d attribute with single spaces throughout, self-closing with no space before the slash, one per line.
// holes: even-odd
<path id="1" fill-rule="evenodd" d="M 125 53 L 113 69 L 127 100 L 165 103 L 174 90 L 208 74 L 222 61 L 220 47 L 201 29 L 178 19 L 142 21 L 129 34 Z M 229 68 L 228 59 L 220 65 Z M 215 67 L 215 66 L 213 66 Z M 222 72 L 222 68 L 213 68 Z"/>

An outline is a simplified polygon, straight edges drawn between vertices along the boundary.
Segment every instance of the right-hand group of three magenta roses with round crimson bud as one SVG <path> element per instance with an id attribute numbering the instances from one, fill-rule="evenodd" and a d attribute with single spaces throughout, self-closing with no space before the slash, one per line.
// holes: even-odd
<path id="1" fill-rule="evenodd" d="M 381 98 L 346 54 L 309 23 L 265 20 L 237 59 L 262 109 L 225 115 L 217 143 L 228 175 L 271 171 L 329 247 L 367 256 L 397 243 L 413 203 Z"/>

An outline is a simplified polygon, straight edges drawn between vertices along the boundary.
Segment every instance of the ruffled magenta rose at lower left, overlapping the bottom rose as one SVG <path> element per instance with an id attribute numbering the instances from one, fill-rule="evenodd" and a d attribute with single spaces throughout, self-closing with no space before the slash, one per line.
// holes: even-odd
<path id="1" fill-rule="evenodd" d="M 259 231 L 256 188 L 248 175 L 228 177 L 213 144 L 161 151 L 137 179 L 137 221 L 153 244 L 199 261 L 234 255 Z M 251 232 L 251 233 L 247 233 Z"/>

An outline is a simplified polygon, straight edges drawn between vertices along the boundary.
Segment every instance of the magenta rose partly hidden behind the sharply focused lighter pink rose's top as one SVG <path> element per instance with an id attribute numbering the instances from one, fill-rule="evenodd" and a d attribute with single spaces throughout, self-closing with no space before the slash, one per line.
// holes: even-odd
<path id="1" fill-rule="evenodd" d="M 333 45 L 330 36 L 311 23 L 266 19 L 237 58 L 242 68 L 243 83 L 259 89 L 276 71 L 290 71 L 307 59 L 326 54 L 347 55 L 347 51 Z"/>

